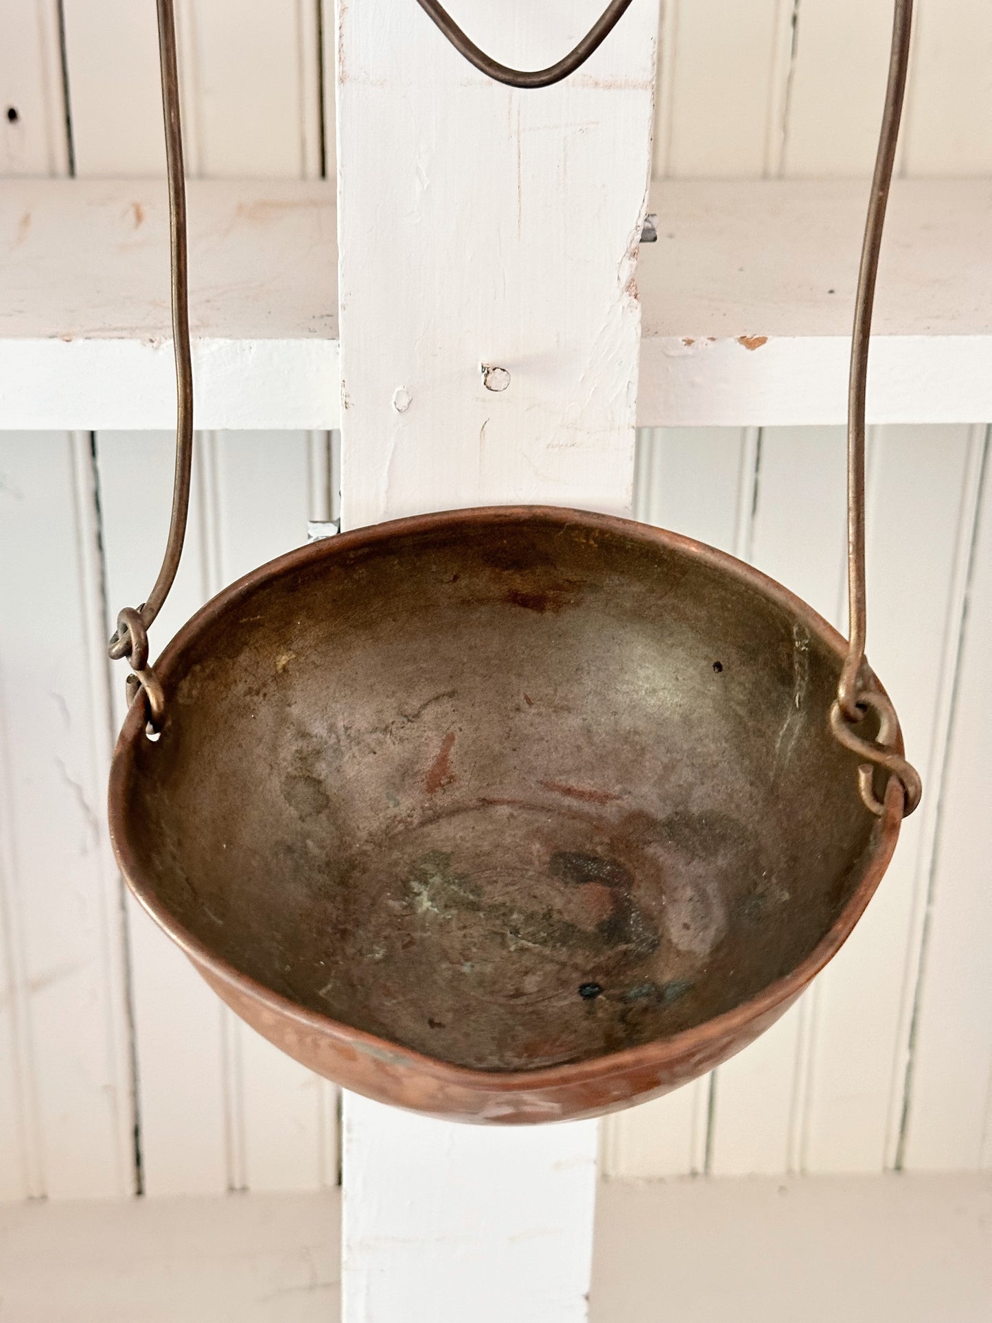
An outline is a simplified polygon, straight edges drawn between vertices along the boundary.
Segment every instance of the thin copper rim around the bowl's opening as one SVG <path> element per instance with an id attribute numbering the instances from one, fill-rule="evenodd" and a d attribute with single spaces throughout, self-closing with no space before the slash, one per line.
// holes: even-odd
<path id="1" fill-rule="evenodd" d="M 474 509 L 415 515 L 409 519 L 372 524 L 287 552 L 284 556 L 279 556 L 276 560 L 251 570 L 206 602 L 168 643 L 155 663 L 155 672 L 168 692 L 169 679 L 177 669 L 186 646 L 204 630 L 208 630 L 235 602 L 250 595 L 261 585 L 271 582 L 287 570 L 296 570 L 316 561 L 343 556 L 356 548 L 388 542 L 397 536 L 427 533 L 433 529 L 446 527 L 462 527 L 466 532 L 471 532 L 474 527 L 479 525 L 513 525 L 532 521 L 557 524 L 562 528 L 578 525 L 590 532 L 618 533 L 623 537 L 634 537 L 641 542 L 697 557 L 712 569 L 747 585 L 750 589 L 778 603 L 783 610 L 798 618 L 812 635 L 832 648 L 837 654 L 839 660 L 844 658 L 847 640 L 833 626 L 813 611 L 811 606 L 803 602 L 802 598 L 798 598 L 788 589 L 753 566 L 729 556 L 726 552 L 708 546 L 705 542 L 697 542 L 680 533 L 672 533 L 667 529 L 614 515 L 599 515 L 590 511 L 566 509 L 553 505 L 488 505 Z M 876 685 L 881 689 L 877 680 Z M 886 814 L 880 820 L 874 840 L 869 847 L 868 867 L 858 886 L 852 892 L 833 926 L 824 934 L 809 955 L 790 974 L 767 984 L 750 1000 L 742 1002 L 730 1011 L 725 1011 L 722 1015 L 705 1020 L 689 1029 L 682 1029 L 671 1037 L 653 1039 L 640 1046 L 622 1048 L 618 1052 L 587 1057 L 582 1061 L 542 1066 L 536 1070 L 476 1069 L 474 1066 L 455 1065 L 439 1057 L 417 1052 L 413 1048 L 389 1043 L 377 1035 L 352 1028 L 316 1011 L 304 1009 L 288 998 L 271 991 L 271 988 L 250 975 L 242 974 L 234 966 L 229 964 L 227 960 L 217 957 L 204 942 L 175 919 L 156 896 L 152 880 L 143 871 L 142 863 L 131 847 L 127 831 L 127 786 L 131 777 L 135 775 L 134 747 L 136 741 L 144 736 L 142 708 L 142 704 L 132 705 L 120 728 L 110 770 L 108 818 L 110 837 L 120 871 L 132 893 L 155 922 L 168 933 L 196 966 L 202 966 L 209 971 L 212 978 L 227 984 L 242 996 L 261 1003 L 278 1016 L 295 1021 L 311 1033 L 333 1040 L 341 1048 L 351 1052 L 364 1053 L 380 1061 L 389 1062 L 392 1066 L 406 1068 L 410 1072 L 444 1085 L 470 1090 L 485 1089 L 489 1093 L 536 1094 L 611 1076 L 622 1076 L 628 1072 L 636 1072 L 638 1074 L 657 1072 L 659 1076 L 663 1076 L 667 1066 L 675 1065 L 686 1056 L 702 1052 L 721 1040 L 737 1037 L 750 1023 L 783 1003 L 788 1003 L 802 992 L 807 983 L 836 955 L 850 935 L 889 865 L 903 816 L 901 787 L 894 778 L 890 778 L 885 798 Z M 827 713 L 824 713 L 825 720 Z M 901 733 L 898 734 L 897 746 L 899 753 L 902 753 Z"/>

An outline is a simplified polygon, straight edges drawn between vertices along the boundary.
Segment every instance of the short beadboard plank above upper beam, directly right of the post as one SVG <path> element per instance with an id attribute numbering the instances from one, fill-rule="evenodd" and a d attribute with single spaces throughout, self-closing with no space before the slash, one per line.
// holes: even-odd
<path id="1" fill-rule="evenodd" d="M 657 94 L 657 175 L 761 179 L 768 120 L 780 105 L 776 40 L 784 0 L 668 0 Z M 791 0 L 790 0 L 791 8 Z"/>

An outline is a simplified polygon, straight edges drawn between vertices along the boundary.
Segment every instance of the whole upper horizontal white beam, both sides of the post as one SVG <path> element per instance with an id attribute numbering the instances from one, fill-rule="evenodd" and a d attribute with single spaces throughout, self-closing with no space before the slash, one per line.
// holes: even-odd
<path id="1" fill-rule="evenodd" d="M 865 196 L 864 181 L 655 187 L 641 426 L 843 421 Z M 196 181 L 189 216 L 197 425 L 339 426 L 332 185 Z M 389 245 L 389 218 L 369 224 Z M 0 183 L 0 429 L 171 426 L 165 225 L 156 180 Z M 872 421 L 992 418 L 991 239 L 992 180 L 895 185 Z"/>

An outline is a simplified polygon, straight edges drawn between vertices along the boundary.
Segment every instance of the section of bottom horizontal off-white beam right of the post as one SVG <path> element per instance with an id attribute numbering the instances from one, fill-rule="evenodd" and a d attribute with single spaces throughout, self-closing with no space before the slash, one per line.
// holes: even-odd
<path id="1" fill-rule="evenodd" d="M 594 1323 L 985 1323 L 980 1176 L 610 1181 Z"/>

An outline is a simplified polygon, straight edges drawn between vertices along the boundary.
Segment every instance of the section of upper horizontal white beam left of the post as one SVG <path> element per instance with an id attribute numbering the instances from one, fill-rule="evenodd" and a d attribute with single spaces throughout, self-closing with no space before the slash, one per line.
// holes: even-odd
<path id="1" fill-rule="evenodd" d="M 188 184 L 196 425 L 336 427 L 333 185 Z M 0 181 L 0 429 L 172 427 L 157 180 Z"/>

